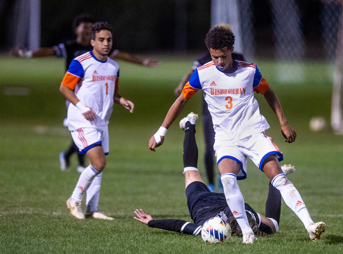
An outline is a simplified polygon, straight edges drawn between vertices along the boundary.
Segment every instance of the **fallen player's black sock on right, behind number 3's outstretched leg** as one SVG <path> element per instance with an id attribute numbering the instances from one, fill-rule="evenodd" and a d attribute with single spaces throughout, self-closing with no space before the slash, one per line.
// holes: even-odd
<path id="1" fill-rule="evenodd" d="M 269 183 L 268 198 L 265 202 L 265 217 L 273 218 L 280 222 L 281 213 L 281 193 L 271 183 Z"/>

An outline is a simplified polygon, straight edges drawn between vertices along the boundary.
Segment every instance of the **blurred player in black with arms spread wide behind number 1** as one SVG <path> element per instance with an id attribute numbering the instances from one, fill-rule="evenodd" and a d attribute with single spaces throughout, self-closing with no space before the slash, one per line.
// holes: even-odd
<path id="1" fill-rule="evenodd" d="M 74 17 L 72 21 L 72 28 L 76 35 L 75 39 L 68 40 L 64 43 L 60 43 L 57 46 L 40 48 L 37 51 L 24 51 L 23 49 L 16 47 L 11 50 L 11 54 L 16 57 L 48 57 L 56 56 L 64 58 L 66 60 L 66 71 L 71 61 L 88 51 L 93 49 L 90 44 L 91 41 L 91 27 L 94 23 L 94 19 L 91 15 L 83 13 Z M 139 64 L 145 67 L 158 66 L 160 63 L 155 58 L 141 59 L 135 55 L 120 51 L 118 49 L 111 50 L 110 58 L 120 59 L 128 61 L 134 64 Z M 69 101 L 66 101 L 68 109 Z M 68 119 L 64 119 L 64 126 L 68 126 Z M 75 145 L 74 141 L 71 140 L 69 148 L 59 154 L 60 169 L 66 170 L 70 166 L 70 157 L 73 153 L 78 155 L 78 166 L 76 170 L 82 172 L 85 168 L 85 155 L 79 153 L 79 148 Z"/>

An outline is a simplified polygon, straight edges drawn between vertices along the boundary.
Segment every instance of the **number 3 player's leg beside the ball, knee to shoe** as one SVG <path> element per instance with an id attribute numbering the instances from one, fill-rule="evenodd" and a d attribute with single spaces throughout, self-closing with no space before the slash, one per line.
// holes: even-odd
<path id="1" fill-rule="evenodd" d="M 218 169 L 222 175 L 221 181 L 226 202 L 242 230 L 243 243 L 253 243 L 257 238 L 249 226 L 245 212 L 244 198 L 237 184 L 237 174 L 241 167 L 235 160 L 224 158 L 218 163 Z"/>

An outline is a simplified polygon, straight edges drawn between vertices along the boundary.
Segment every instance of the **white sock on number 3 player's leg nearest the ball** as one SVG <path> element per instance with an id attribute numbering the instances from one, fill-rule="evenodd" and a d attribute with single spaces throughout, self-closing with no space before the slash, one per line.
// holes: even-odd
<path id="1" fill-rule="evenodd" d="M 242 234 L 253 233 L 245 212 L 244 198 L 237 184 L 237 176 L 234 174 L 223 174 L 221 176 L 221 181 L 226 202 L 230 207 L 233 216 L 236 218 L 237 223 L 242 230 Z"/>

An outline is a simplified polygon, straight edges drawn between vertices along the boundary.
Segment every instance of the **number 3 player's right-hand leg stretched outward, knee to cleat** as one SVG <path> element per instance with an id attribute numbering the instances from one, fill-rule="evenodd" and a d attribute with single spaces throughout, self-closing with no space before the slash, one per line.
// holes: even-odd
<path id="1" fill-rule="evenodd" d="M 301 220 L 301 222 L 303 222 L 310 238 L 313 241 L 319 240 L 321 238 L 321 234 L 325 231 L 325 223 L 314 223 L 312 221 L 311 216 L 298 190 L 282 172 L 279 161 L 277 160 L 275 155 L 269 155 L 269 157 L 265 159 L 264 164 L 262 165 L 262 170 L 267 175 L 272 185 L 280 190 L 280 193 L 286 205 L 291 208 Z"/>

